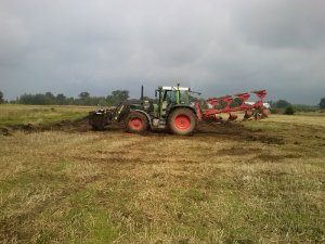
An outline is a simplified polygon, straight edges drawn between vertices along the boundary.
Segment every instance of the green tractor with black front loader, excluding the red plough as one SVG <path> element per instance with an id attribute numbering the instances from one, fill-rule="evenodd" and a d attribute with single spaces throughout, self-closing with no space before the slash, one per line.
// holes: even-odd
<path id="1" fill-rule="evenodd" d="M 176 134 L 191 134 L 197 125 L 197 110 L 190 88 L 159 87 L 156 103 L 143 99 L 127 100 L 115 108 L 89 113 L 89 123 L 95 130 L 104 129 L 113 123 L 123 123 L 126 130 L 143 133 L 150 129 L 170 129 Z"/>

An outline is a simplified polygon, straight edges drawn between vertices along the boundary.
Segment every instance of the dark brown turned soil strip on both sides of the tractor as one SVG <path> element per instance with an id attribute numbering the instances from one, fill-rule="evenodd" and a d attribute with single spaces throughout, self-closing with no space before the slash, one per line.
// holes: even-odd
<path id="1" fill-rule="evenodd" d="M 88 116 L 78 120 L 62 120 L 53 124 L 39 124 L 39 125 L 15 125 L 0 128 L 0 134 L 12 136 L 14 131 L 24 132 L 42 132 L 42 131 L 65 131 L 65 132 L 89 132 L 93 131 L 88 124 Z M 102 133 L 109 132 L 125 132 L 121 124 L 114 124 L 106 127 L 103 131 L 94 131 Z M 127 133 L 127 132 L 125 132 Z M 166 131 L 151 131 L 145 133 L 150 137 L 169 137 L 170 132 Z M 242 140 L 242 141 L 259 141 L 266 144 L 284 144 L 284 138 L 266 134 L 263 131 L 250 130 L 244 127 L 240 123 L 229 124 L 213 124 L 200 123 L 192 136 L 197 139 L 203 138 L 218 138 L 224 140 Z"/>

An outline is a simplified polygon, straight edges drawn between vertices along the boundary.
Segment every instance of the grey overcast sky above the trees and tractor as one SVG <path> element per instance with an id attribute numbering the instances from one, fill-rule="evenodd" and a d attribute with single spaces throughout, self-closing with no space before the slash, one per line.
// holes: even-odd
<path id="1" fill-rule="evenodd" d="M 0 90 L 325 97 L 324 0 L 0 0 Z"/>

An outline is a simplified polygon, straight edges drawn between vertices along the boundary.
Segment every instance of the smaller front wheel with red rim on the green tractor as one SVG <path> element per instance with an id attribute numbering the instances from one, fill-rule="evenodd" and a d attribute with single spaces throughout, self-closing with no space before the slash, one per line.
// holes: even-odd
<path id="1" fill-rule="evenodd" d="M 140 112 L 131 112 L 126 120 L 126 129 L 131 133 L 143 133 L 148 129 L 147 117 Z"/>

